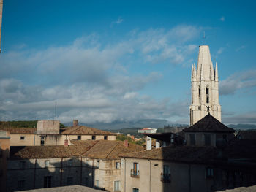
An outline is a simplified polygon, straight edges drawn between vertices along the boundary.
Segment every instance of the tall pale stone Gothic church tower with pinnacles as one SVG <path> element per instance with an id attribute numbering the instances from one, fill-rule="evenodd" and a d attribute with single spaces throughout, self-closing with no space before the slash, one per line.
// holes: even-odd
<path id="1" fill-rule="evenodd" d="M 211 62 L 208 45 L 200 45 L 197 68 L 192 65 L 191 74 L 190 126 L 205 117 L 208 112 L 221 121 L 221 107 L 219 105 L 219 78 L 217 63 Z"/>

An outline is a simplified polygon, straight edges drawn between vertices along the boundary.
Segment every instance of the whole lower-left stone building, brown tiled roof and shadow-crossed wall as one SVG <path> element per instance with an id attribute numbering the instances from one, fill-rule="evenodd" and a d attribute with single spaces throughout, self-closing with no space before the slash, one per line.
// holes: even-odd
<path id="1" fill-rule="evenodd" d="M 69 146 L 11 147 L 7 191 L 64 185 L 123 191 L 118 155 L 143 150 L 125 143 L 77 140 Z"/>

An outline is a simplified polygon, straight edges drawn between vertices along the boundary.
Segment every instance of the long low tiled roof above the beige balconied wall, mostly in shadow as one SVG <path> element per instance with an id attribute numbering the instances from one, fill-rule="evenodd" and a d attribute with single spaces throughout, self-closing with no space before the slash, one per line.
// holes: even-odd
<path id="1" fill-rule="evenodd" d="M 152 160 L 165 160 L 165 161 L 180 161 L 192 163 L 213 163 L 219 161 L 220 150 L 216 147 L 162 147 L 153 150 L 145 150 L 127 153 L 121 155 L 126 158 L 143 158 Z M 229 159 L 240 162 L 241 159 L 245 161 L 255 162 L 256 159 L 256 140 L 238 140 L 234 139 L 223 150 L 221 160 Z"/>

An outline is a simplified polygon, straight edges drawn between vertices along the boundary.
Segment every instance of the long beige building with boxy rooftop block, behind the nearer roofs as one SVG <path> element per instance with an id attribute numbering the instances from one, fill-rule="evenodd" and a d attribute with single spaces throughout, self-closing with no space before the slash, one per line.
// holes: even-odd
<path id="1" fill-rule="evenodd" d="M 10 146 L 70 145 L 78 140 L 116 140 L 116 134 L 86 126 L 59 128 L 59 120 L 38 120 L 37 128 L 0 128 L 10 132 Z"/>

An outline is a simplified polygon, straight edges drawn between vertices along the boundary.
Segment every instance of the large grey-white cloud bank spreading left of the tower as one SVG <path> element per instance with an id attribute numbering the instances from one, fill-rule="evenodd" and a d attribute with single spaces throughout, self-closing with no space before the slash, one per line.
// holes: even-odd
<path id="1" fill-rule="evenodd" d="M 184 64 L 200 35 L 194 26 L 133 31 L 120 42 L 102 44 L 97 34 L 72 45 L 13 50 L 0 55 L 1 120 L 58 118 L 67 122 L 111 122 L 188 116 L 187 101 L 141 95 L 161 72 L 129 74 L 138 64 Z M 15 77 L 11 78 L 11 77 Z"/>

